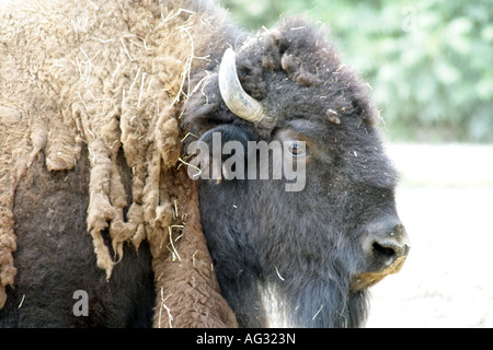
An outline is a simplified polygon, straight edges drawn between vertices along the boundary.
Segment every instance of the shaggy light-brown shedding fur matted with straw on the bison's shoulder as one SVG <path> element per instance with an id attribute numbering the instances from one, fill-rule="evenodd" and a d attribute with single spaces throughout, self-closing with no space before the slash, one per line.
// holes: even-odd
<path id="1" fill-rule="evenodd" d="M 202 234 L 195 185 L 184 166 L 177 170 L 180 110 L 194 91 L 188 72 L 207 66 L 202 55 L 210 45 L 220 52 L 226 46 L 223 12 L 200 7 L 151 0 L 2 4 L 0 307 L 16 272 L 16 184 L 41 150 L 53 172 L 77 166 L 87 148 L 88 230 L 107 278 L 125 242 L 147 240 L 158 295 L 154 326 L 236 325 Z M 128 212 L 119 149 L 133 170 Z M 105 229 L 115 256 L 104 244 Z"/>

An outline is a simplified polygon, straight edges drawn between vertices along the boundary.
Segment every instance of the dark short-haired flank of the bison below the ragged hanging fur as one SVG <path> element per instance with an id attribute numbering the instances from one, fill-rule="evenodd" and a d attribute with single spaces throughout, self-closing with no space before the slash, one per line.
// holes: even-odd
<path id="1" fill-rule="evenodd" d="M 39 156 L 19 184 L 14 205 L 19 269 L 15 288 L 0 311 L 1 327 L 152 326 L 156 293 L 148 244 L 138 250 L 127 245 L 125 259 L 106 280 L 87 233 L 88 180 L 87 156 L 74 171 L 55 173 Z M 87 316 L 73 313 L 77 291 L 88 293 Z"/>

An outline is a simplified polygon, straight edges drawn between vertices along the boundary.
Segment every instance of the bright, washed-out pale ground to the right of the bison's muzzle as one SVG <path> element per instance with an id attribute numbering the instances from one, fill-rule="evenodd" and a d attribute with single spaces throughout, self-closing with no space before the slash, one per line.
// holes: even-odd
<path id="1" fill-rule="evenodd" d="M 493 327 L 493 145 L 388 147 L 412 242 L 367 327 Z"/>

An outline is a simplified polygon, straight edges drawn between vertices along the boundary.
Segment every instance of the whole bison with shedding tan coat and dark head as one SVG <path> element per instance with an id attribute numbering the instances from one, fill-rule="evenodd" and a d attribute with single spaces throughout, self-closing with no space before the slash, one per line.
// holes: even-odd
<path id="1" fill-rule="evenodd" d="M 364 325 L 410 244 L 367 84 L 323 27 L 0 7 L 1 326 Z"/>

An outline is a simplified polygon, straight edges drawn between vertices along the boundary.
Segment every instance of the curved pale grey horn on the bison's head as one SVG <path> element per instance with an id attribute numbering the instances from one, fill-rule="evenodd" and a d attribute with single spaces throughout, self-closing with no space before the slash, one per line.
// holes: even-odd
<path id="1" fill-rule="evenodd" d="M 259 122 L 263 119 L 262 105 L 241 88 L 237 73 L 237 55 L 228 48 L 219 67 L 219 91 L 228 108 L 240 118 Z"/>

